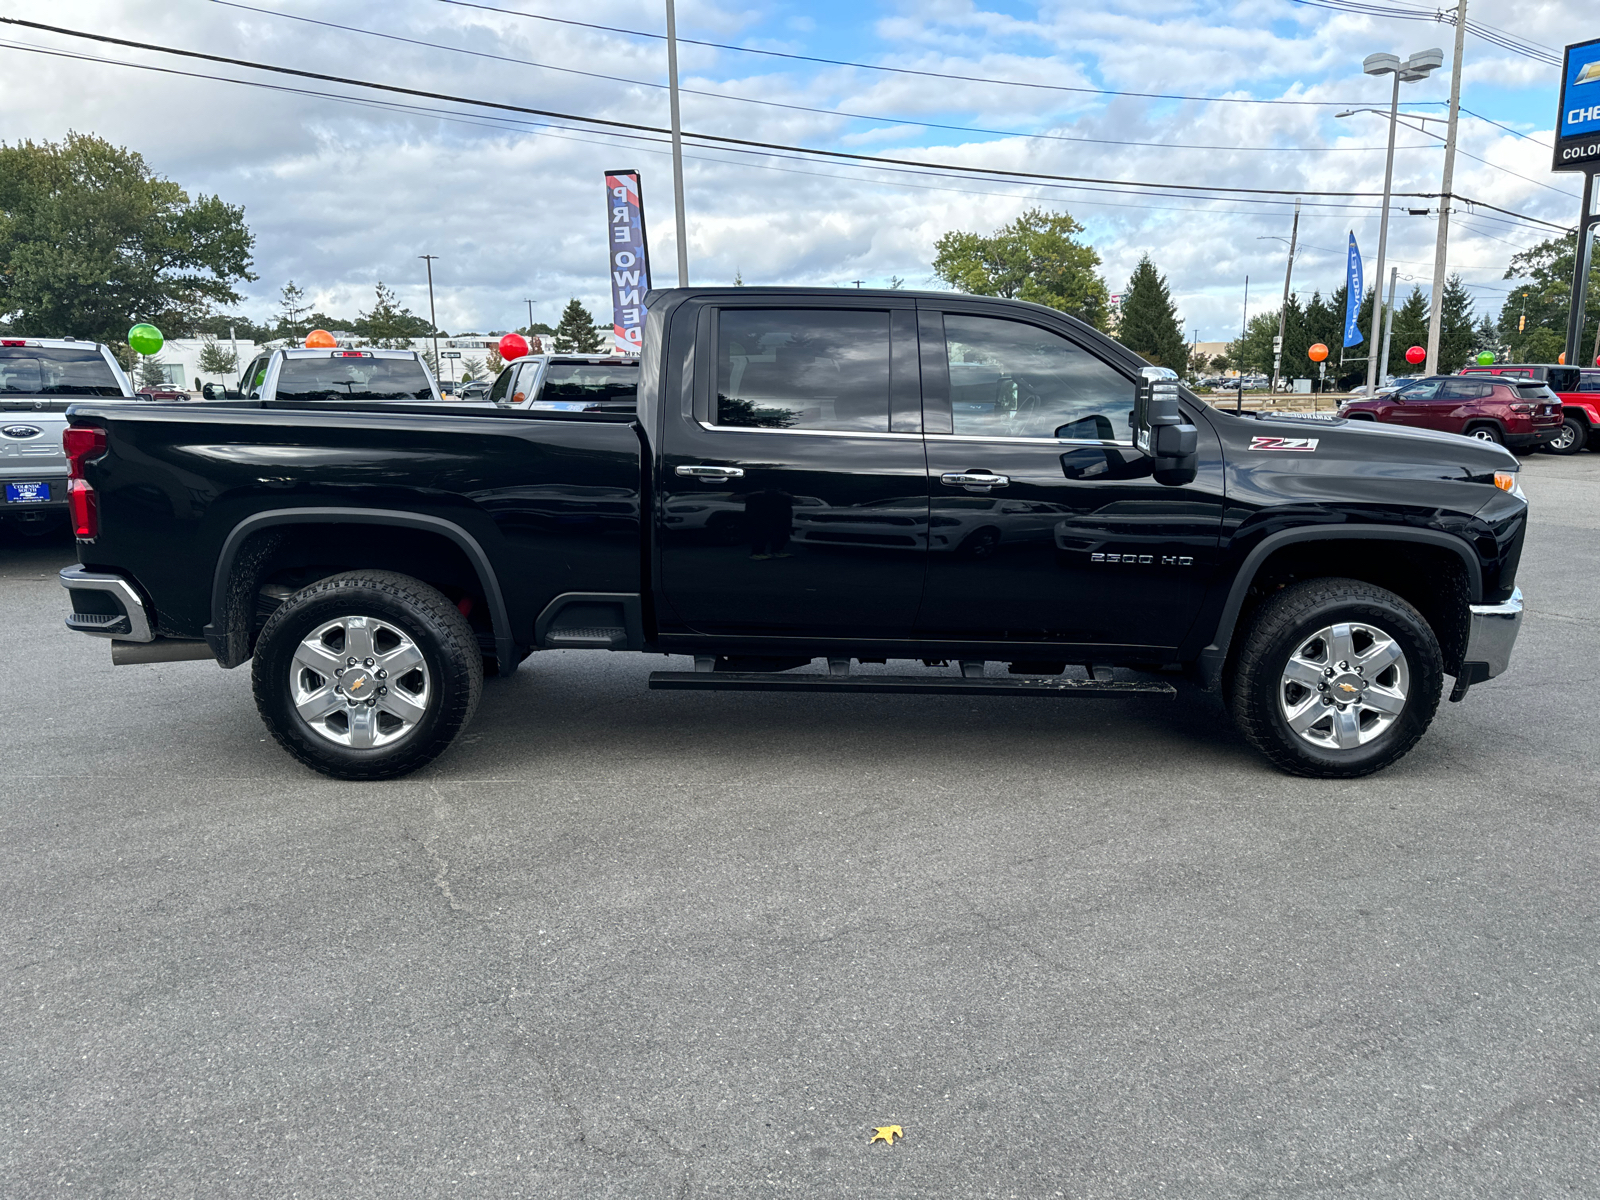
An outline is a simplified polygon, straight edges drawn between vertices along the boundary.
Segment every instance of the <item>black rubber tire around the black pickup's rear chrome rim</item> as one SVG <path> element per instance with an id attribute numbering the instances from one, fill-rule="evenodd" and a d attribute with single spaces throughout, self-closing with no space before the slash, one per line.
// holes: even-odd
<path id="1" fill-rule="evenodd" d="M 358 749 L 334 741 L 338 715 L 342 712 L 338 706 L 384 704 L 376 696 L 360 704 L 350 704 L 347 696 L 341 696 L 333 701 L 336 707 L 330 715 L 315 725 L 301 715 L 294 702 L 291 690 L 304 686 L 306 680 L 296 654 L 302 653 L 302 646 L 317 629 L 344 618 L 366 618 L 381 624 L 381 632 L 373 635 L 374 642 L 382 632 L 389 632 L 389 637 L 398 634 L 421 651 L 424 670 L 405 675 L 421 680 L 422 686 L 414 694 L 422 696 L 422 702 L 410 706 L 421 715 L 410 726 L 398 717 L 387 717 L 378 710 L 370 717 L 374 728 L 386 717 L 392 722 L 389 730 L 379 734 L 392 738 L 386 744 Z M 334 645 L 331 651 L 334 658 L 344 654 L 347 648 L 338 638 L 334 643 L 318 645 Z M 344 669 L 341 664 L 339 670 Z M 350 670 L 352 675 L 363 675 L 357 680 L 357 686 L 378 686 L 378 678 L 366 678 L 370 672 L 362 672 L 360 666 Z M 312 672 L 312 685 L 315 677 Z M 349 678 L 346 677 L 346 682 Z M 400 678 L 397 674 L 395 680 L 386 680 L 397 685 L 397 698 Z M 483 656 L 472 626 L 434 587 L 395 571 L 350 571 L 310 584 L 278 605 L 256 640 L 251 683 L 261 720 L 267 723 L 278 746 L 314 771 L 336 779 L 394 779 L 443 754 L 472 720 L 478 696 L 483 693 Z M 334 688 L 331 675 L 328 688 Z M 354 720 L 346 715 L 347 725 Z M 398 733 L 395 726 L 400 726 Z"/>

